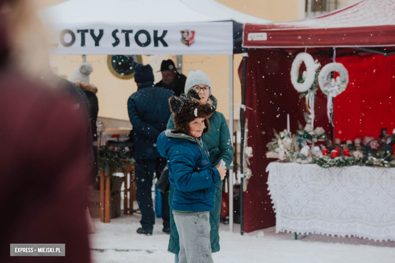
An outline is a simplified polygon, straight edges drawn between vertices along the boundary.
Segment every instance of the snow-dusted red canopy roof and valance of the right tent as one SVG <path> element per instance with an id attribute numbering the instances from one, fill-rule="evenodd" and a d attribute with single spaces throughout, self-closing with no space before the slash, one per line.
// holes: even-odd
<path id="1" fill-rule="evenodd" d="M 246 24 L 245 48 L 395 46 L 395 1 L 362 0 L 294 22 Z"/>

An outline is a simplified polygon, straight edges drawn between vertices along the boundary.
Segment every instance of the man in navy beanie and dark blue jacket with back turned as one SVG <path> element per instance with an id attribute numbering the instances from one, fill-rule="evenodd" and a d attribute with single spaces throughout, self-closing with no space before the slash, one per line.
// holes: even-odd
<path id="1" fill-rule="evenodd" d="M 172 91 L 153 85 L 153 72 L 149 65 L 137 65 L 134 79 L 137 92 L 128 100 L 128 113 L 133 125 L 136 159 L 136 198 L 141 211 L 141 228 L 137 233 L 152 235 L 155 215 L 151 198 L 153 173 L 159 178 L 166 159 L 156 150 L 156 139 L 166 129 L 170 117 L 169 98 Z M 168 194 L 162 194 L 163 231 L 170 233 L 170 207 Z"/>

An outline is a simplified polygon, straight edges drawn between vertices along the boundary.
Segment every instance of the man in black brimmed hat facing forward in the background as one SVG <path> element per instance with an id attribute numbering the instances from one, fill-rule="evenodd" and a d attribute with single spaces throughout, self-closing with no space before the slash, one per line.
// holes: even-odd
<path id="1" fill-rule="evenodd" d="M 172 90 L 177 97 L 184 93 L 186 76 L 177 72 L 173 60 L 162 61 L 161 72 L 162 80 L 156 83 L 155 86 Z"/>

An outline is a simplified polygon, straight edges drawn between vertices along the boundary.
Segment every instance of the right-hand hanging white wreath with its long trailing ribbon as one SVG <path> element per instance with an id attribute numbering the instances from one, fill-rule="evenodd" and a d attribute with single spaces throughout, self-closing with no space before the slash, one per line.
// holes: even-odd
<path id="1" fill-rule="evenodd" d="M 332 72 L 339 73 L 339 76 L 332 78 Z M 318 75 L 318 83 L 321 91 L 327 96 L 327 115 L 329 122 L 332 123 L 333 101 L 337 95 L 345 91 L 348 84 L 348 71 L 341 63 L 326 64 Z"/>

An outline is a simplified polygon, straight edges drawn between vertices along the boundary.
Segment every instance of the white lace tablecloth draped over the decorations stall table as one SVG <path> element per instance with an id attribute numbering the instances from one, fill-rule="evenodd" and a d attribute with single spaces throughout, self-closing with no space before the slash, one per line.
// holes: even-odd
<path id="1" fill-rule="evenodd" d="M 395 168 L 271 162 L 276 232 L 395 241 Z"/>

